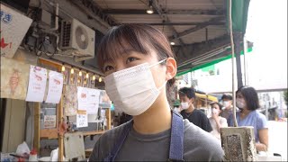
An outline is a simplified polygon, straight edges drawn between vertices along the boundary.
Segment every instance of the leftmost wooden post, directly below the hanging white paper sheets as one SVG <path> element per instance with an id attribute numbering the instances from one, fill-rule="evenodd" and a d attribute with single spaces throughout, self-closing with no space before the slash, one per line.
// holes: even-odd
<path id="1" fill-rule="evenodd" d="M 34 141 L 33 148 L 40 153 L 40 103 L 34 103 Z"/>

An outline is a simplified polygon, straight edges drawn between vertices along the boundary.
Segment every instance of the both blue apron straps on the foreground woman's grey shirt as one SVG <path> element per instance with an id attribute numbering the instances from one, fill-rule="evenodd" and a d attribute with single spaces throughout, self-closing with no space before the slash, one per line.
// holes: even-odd
<path id="1" fill-rule="evenodd" d="M 170 139 L 170 150 L 169 158 L 167 161 L 184 161 L 183 150 L 184 150 L 184 122 L 180 114 L 172 112 L 172 126 L 171 126 L 171 139 Z M 133 126 L 133 120 L 129 121 L 123 129 L 120 138 L 117 140 L 116 145 L 109 153 L 108 157 L 104 158 L 104 161 L 115 161 L 122 144 L 127 138 L 130 129 Z"/>

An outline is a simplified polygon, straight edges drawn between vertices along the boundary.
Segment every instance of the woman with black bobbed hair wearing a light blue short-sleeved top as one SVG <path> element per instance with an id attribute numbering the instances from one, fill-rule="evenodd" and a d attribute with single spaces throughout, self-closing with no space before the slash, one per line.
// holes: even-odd
<path id="1" fill-rule="evenodd" d="M 251 86 L 242 86 L 236 92 L 236 113 L 238 126 L 254 127 L 257 151 L 266 151 L 268 148 L 268 125 L 266 116 L 257 112 L 260 108 L 257 91 Z M 229 126 L 233 126 L 233 117 L 229 117 Z"/>

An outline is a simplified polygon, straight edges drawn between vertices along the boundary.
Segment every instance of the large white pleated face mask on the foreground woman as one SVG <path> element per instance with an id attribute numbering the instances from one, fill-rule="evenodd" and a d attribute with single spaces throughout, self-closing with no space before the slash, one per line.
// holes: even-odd
<path id="1" fill-rule="evenodd" d="M 151 66 L 148 63 L 140 64 L 106 76 L 105 90 L 115 108 L 133 116 L 148 110 L 160 94 L 160 89 L 166 85 L 156 87 L 150 67 L 165 60 Z"/>

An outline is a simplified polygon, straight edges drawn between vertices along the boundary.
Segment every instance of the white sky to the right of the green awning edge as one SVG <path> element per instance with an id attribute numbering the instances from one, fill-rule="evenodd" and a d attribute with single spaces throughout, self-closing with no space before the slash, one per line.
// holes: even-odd
<path id="1" fill-rule="evenodd" d="M 287 87 L 287 0 L 251 0 L 246 37 L 254 42 L 248 83 Z"/>

